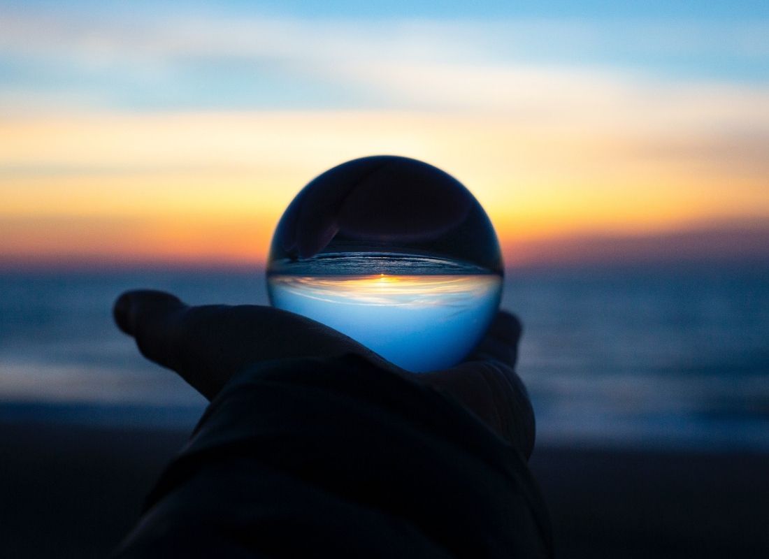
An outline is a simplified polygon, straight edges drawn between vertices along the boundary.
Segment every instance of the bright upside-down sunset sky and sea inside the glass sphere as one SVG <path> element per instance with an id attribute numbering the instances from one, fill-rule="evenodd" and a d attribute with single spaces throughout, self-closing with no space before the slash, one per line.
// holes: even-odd
<path id="1" fill-rule="evenodd" d="M 384 265 L 381 255 L 376 256 L 378 265 Z M 352 268 L 361 258 L 365 256 L 335 255 L 338 268 Z M 285 273 L 291 265 L 284 263 L 282 273 L 268 275 L 271 304 L 326 324 L 408 371 L 448 368 L 461 361 L 494 318 L 501 275 L 461 269 L 457 263 L 441 268 L 429 258 L 388 260 L 390 271 L 378 274 L 312 274 L 308 268 L 325 268 L 307 262 L 297 263 L 298 273 L 291 274 Z M 409 268 L 433 273 L 402 273 Z"/>

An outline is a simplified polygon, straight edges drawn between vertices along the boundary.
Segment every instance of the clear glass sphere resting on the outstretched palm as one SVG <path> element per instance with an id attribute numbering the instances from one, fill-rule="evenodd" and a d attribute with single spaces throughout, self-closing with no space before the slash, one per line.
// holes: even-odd
<path id="1" fill-rule="evenodd" d="M 408 371 L 457 364 L 496 313 L 497 235 L 467 188 L 415 159 L 354 159 L 311 181 L 272 238 L 277 308 L 347 334 Z"/>

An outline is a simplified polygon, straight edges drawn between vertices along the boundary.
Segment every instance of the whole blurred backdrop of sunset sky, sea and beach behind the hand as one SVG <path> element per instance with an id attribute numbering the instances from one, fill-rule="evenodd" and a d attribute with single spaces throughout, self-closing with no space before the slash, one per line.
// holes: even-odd
<path id="1" fill-rule="evenodd" d="M 769 553 L 769 5 L 82 0 L 0 2 L 15 556 L 114 545 L 137 511 L 109 491 L 145 491 L 205 406 L 115 297 L 265 304 L 288 202 L 375 154 L 448 171 L 494 222 L 564 556 Z M 31 494 L 107 535 L 41 540 Z"/>

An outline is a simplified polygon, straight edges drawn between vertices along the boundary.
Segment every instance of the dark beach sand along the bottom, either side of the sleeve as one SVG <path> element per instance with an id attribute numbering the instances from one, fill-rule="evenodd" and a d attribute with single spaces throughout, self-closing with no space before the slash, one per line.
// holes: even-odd
<path id="1" fill-rule="evenodd" d="M 103 557 L 178 431 L 0 424 L 0 557 Z M 560 557 L 769 557 L 769 456 L 538 448 Z"/>

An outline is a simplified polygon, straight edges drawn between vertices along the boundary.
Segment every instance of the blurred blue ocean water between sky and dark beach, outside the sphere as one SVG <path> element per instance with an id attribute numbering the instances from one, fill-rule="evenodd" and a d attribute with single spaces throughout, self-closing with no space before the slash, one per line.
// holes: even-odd
<path id="1" fill-rule="evenodd" d="M 540 444 L 769 452 L 769 266 L 508 271 Z M 205 401 L 148 363 L 112 301 L 266 304 L 264 271 L 0 272 L 0 419 L 191 428 Z"/>

